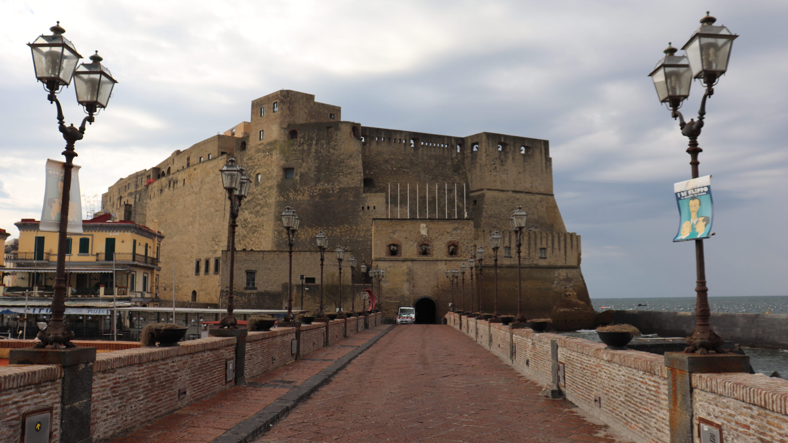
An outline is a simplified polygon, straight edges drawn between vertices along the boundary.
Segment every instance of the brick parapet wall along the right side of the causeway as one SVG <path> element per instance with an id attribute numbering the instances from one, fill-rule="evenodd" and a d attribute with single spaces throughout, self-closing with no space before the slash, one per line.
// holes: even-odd
<path id="1" fill-rule="evenodd" d="M 446 317 L 449 325 L 459 329 L 457 315 Z M 473 338 L 478 329 L 478 343 L 488 348 L 488 325 L 489 349 L 527 378 L 550 385 L 557 370 L 554 364 L 563 363 L 565 382 L 559 388 L 585 414 L 638 443 L 670 441 L 663 356 L 611 351 L 593 341 L 510 329 L 474 318 L 461 330 Z M 557 362 L 552 361 L 553 342 Z M 722 424 L 725 441 L 788 441 L 788 381 L 763 374 L 693 374 L 692 384 L 696 423 L 702 417 Z M 597 404 L 595 396 L 600 398 Z M 694 438 L 699 443 L 697 433 Z"/>

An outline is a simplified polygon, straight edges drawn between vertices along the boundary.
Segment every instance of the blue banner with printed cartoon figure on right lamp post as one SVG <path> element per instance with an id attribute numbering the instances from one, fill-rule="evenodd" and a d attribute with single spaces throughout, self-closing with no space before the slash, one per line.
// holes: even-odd
<path id="1" fill-rule="evenodd" d="M 698 240 L 712 235 L 714 206 L 712 176 L 673 185 L 678 204 L 678 233 L 673 241 Z"/>

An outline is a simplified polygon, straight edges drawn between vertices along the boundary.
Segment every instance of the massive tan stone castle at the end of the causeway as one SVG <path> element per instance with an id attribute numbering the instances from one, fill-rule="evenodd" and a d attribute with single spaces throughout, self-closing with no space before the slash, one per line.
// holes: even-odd
<path id="1" fill-rule="evenodd" d="M 118 220 L 142 225 L 158 221 L 166 236 L 159 285 L 162 293 L 163 288 L 169 292 L 174 276 L 179 303 L 221 303 L 226 293 L 229 203 L 219 169 L 229 155 L 252 181 L 238 218 L 236 307 L 282 307 L 288 246 L 280 215 L 290 206 L 301 218 L 293 254 L 296 307 L 302 287 L 307 289 L 305 309 L 314 308 L 319 296 L 314 236 L 322 229 L 330 242 L 326 297 L 336 298 L 333 248 L 341 244 L 348 251 L 346 260 L 355 255 L 359 266 L 365 262 L 387 270 L 381 281 L 386 316 L 398 306 L 428 300 L 421 305 L 435 309 L 435 318 L 440 318 L 452 293 L 455 306 L 462 307 L 459 285 L 452 286 L 444 270 L 459 268 L 475 245 L 481 245 L 487 250 L 483 310 L 492 311 L 488 238 L 499 230 L 504 236 L 498 260 L 499 307 L 514 313 L 517 261 L 508 218 L 522 206 L 528 214 L 522 234 L 526 315 L 553 317 L 567 328 L 593 323 L 580 270 L 580 236 L 567 233 L 563 225 L 552 193 L 547 140 L 370 128 L 342 121 L 339 106 L 288 90 L 253 100 L 251 121 L 175 151 L 157 166 L 117 181 L 102 195 L 102 209 Z M 347 262 L 343 266 L 342 305 L 348 311 L 350 270 Z M 358 269 L 353 278 L 355 292 L 362 280 L 370 281 Z M 474 278 L 478 285 L 478 268 Z M 470 311 L 470 273 L 464 279 L 463 301 Z M 354 303 L 359 310 L 358 296 Z"/>

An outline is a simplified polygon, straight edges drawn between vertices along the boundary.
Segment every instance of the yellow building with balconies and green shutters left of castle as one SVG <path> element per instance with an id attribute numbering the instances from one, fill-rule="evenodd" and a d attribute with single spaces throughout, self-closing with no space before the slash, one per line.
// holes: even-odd
<path id="1" fill-rule="evenodd" d="M 58 233 L 40 231 L 39 221 L 32 218 L 23 218 L 14 225 L 19 228 L 19 248 L 9 255 L 8 262 L 13 267 L 4 271 L 16 274 L 17 286 L 6 288 L 6 295 L 32 291 L 35 285 L 49 295 L 58 261 Z M 83 233 L 69 234 L 66 239 L 68 293 L 112 296 L 114 275 L 117 296 L 138 299 L 135 301 L 158 298 L 158 251 L 164 236 L 157 228 L 133 221 L 112 221 L 111 214 L 83 221 Z"/>

